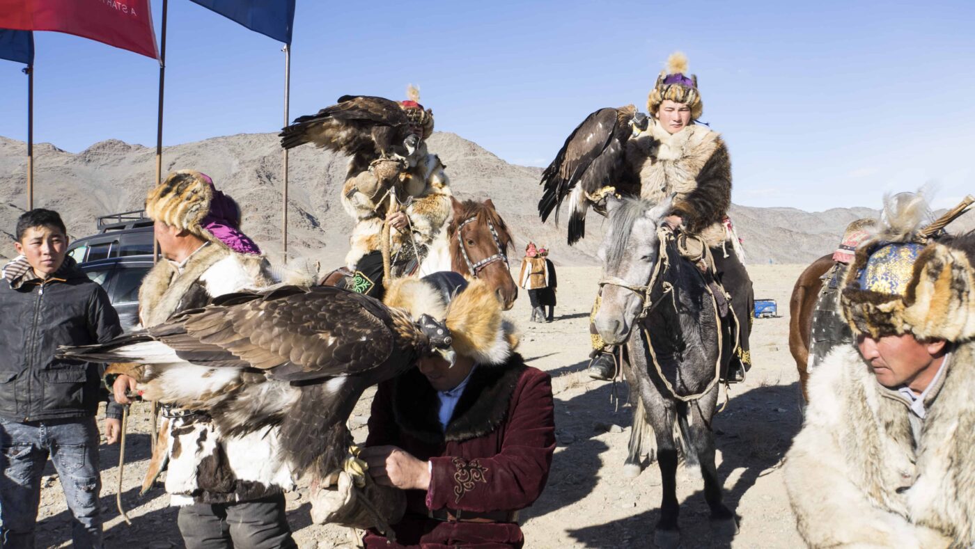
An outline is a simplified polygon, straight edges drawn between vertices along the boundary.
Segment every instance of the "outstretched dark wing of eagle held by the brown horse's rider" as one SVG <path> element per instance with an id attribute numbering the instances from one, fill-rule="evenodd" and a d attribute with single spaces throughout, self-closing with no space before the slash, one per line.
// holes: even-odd
<path id="1" fill-rule="evenodd" d="M 338 103 L 302 116 L 282 128 L 281 146 L 314 143 L 348 155 L 377 157 L 388 152 L 397 136 L 409 134 L 409 117 L 396 101 L 372 95 L 342 95 Z"/>

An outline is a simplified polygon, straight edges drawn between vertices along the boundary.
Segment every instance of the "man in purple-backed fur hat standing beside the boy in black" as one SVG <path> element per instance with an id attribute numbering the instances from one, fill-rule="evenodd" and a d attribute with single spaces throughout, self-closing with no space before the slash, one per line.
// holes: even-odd
<path id="1" fill-rule="evenodd" d="M 154 222 L 163 259 L 142 280 L 143 328 L 209 305 L 215 297 L 272 283 L 267 260 L 240 229 L 241 210 L 204 173 L 181 169 L 149 191 L 145 213 Z M 201 373 L 203 383 L 209 372 Z M 186 380 L 186 383 L 193 383 Z M 128 402 L 136 380 L 119 376 L 115 397 Z M 208 410 L 162 407 L 159 444 L 143 488 L 169 462 L 166 492 L 179 507 L 179 533 L 188 549 L 295 547 L 285 492 L 295 488 L 278 443 L 278 428 L 224 436 Z"/>

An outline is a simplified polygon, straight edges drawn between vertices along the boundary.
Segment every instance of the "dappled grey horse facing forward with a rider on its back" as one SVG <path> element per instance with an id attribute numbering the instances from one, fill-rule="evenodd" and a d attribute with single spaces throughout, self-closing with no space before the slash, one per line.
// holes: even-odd
<path id="1" fill-rule="evenodd" d="M 719 369 L 730 359 L 736 337 L 722 330 L 714 280 L 681 257 L 673 233 L 661 226 L 669 200 L 653 204 L 610 197 L 606 206 L 608 230 L 599 251 L 602 298 L 594 321 L 607 344 L 625 344 L 624 364 L 642 416 L 634 418 L 631 452 L 644 421 L 656 440 L 663 497 L 654 542 L 665 549 L 680 544 L 679 444 L 685 465 L 700 466 L 713 526 L 719 534 L 734 535 L 738 526 L 722 502 L 711 420 Z"/>

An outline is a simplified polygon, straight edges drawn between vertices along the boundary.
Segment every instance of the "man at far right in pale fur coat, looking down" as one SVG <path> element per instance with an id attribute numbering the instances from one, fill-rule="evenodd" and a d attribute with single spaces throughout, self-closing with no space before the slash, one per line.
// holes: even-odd
<path id="1" fill-rule="evenodd" d="M 925 209 L 891 210 L 857 250 L 856 343 L 809 380 L 785 481 L 810 546 L 975 546 L 975 234 L 925 243 Z"/>

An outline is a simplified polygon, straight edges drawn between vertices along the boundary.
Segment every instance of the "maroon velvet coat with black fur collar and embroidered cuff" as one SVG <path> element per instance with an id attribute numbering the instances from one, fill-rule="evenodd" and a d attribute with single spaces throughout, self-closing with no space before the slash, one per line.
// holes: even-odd
<path id="1" fill-rule="evenodd" d="M 521 547 L 517 523 L 441 522 L 428 512 L 447 509 L 486 513 L 517 511 L 542 493 L 555 451 L 552 380 L 512 354 L 501 366 L 479 366 L 448 422 L 438 420 L 440 401 L 420 374 L 380 384 L 372 401 L 367 446 L 395 445 L 429 459 L 429 491 L 407 492 L 407 513 L 393 529 L 397 541 L 424 548 Z M 389 547 L 376 532 L 367 547 Z"/>

